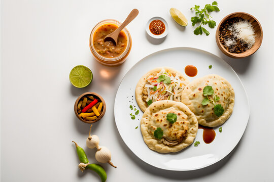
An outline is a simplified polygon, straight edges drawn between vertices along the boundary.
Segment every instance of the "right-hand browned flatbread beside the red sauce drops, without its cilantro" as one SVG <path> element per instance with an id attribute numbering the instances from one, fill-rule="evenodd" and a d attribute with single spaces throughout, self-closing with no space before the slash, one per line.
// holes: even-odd
<path id="1" fill-rule="evenodd" d="M 224 108 L 224 113 L 220 117 L 214 113 L 214 104 L 210 103 L 205 106 L 201 104 L 205 98 L 203 88 L 207 85 L 212 86 L 214 90 L 214 94 L 209 98 L 213 100 L 215 95 L 220 98 L 215 103 L 216 105 L 221 104 Z M 195 79 L 186 86 L 182 93 L 182 102 L 195 114 L 198 123 L 210 127 L 219 126 L 230 117 L 233 111 L 234 98 L 235 94 L 231 84 L 223 77 L 215 74 Z"/>

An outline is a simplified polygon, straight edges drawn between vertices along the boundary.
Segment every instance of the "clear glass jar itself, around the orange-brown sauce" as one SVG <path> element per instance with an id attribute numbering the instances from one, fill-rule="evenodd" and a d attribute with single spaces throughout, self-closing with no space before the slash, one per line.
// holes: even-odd
<path id="1" fill-rule="evenodd" d="M 114 24 L 114 25 L 116 25 L 118 27 L 121 25 L 120 22 L 118 22 L 116 20 L 112 20 L 112 19 L 107 19 L 107 20 L 103 20 L 103 21 L 99 22 L 97 25 L 95 25 L 95 27 L 92 29 L 92 31 L 90 33 L 89 48 L 90 48 L 90 51 L 91 51 L 93 57 L 99 63 L 101 63 L 103 65 L 106 65 L 106 66 L 117 66 L 117 65 L 122 64 L 126 60 L 128 54 L 129 54 L 129 52 L 131 50 L 131 44 L 132 44 L 131 36 L 130 36 L 128 30 L 126 28 L 123 28 L 122 31 L 125 33 L 125 35 L 127 37 L 127 44 L 126 44 L 126 48 L 125 48 L 124 52 L 121 55 L 119 55 L 118 57 L 106 58 L 106 57 L 100 55 L 99 53 L 97 53 L 97 51 L 95 50 L 94 45 L 92 43 L 93 42 L 93 38 L 94 38 L 93 35 L 96 32 L 96 30 L 100 26 L 105 25 L 105 24 Z"/>

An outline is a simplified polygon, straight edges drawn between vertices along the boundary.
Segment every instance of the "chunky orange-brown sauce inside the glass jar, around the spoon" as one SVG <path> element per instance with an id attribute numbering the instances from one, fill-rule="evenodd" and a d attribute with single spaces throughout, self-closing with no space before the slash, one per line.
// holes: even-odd
<path id="1" fill-rule="evenodd" d="M 104 24 L 98 27 L 93 34 L 93 47 L 95 51 L 105 58 L 116 58 L 126 49 L 127 36 L 121 31 L 118 36 L 117 44 L 112 41 L 104 41 L 104 38 L 118 28 L 115 24 Z"/>

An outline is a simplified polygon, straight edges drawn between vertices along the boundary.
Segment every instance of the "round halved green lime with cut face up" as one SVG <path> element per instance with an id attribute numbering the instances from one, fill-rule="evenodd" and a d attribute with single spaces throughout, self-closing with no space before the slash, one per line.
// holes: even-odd
<path id="1" fill-rule="evenodd" d="M 78 65 L 70 72 L 70 81 L 73 86 L 83 88 L 92 81 L 93 75 L 90 69 L 83 65 Z"/>

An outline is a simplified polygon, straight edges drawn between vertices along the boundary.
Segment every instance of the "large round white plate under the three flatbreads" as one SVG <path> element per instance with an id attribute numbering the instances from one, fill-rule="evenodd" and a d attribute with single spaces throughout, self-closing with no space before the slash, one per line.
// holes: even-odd
<path id="1" fill-rule="evenodd" d="M 145 144 L 140 130 L 140 120 L 143 112 L 135 101 L 135 86 L 141 76 L 155 67 L 173 67 L 184 73 L 185 66 L 189 64 L 196 66 L 198 69 L 198 74 L 195 77 L 188 77 L 190 81 L 204 75 L 218 74 L 231 83 L 235 91 L 233 113 L 221 125 L 222 132 L 219 132 L 219 127 L 214 128 L 216 136 L 211 144 L 203 142 L 203 130 L 198 129 L 194 140 L 200 142 L 198 147 L 194 147 L 192 144 L 180 152 L 169 154 L 161 154 L 150 150 Z M 212 69 L 209 69 L 209 65 L 212 65 Z M 130 105 L 135 105 L 140 110 L 140 114 L 136 116 L 135 120 L 130 118 L 129 114 L 133 113 L 129 108 Z M 242 138 L 248 123 L 249 112 L 245 88 L 234 70 L 221 58 L 193 48 L 173 48 L 159 51 L 136 63 L 121 81 L 114 104 L 115 122 L 128 148 L 150 165 L 177 171 L 200 169 L 223 159 Z M 139 127 L 135 129 L 136 126 Z"/>

